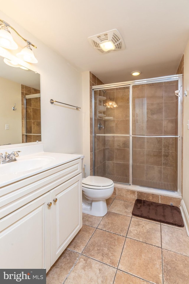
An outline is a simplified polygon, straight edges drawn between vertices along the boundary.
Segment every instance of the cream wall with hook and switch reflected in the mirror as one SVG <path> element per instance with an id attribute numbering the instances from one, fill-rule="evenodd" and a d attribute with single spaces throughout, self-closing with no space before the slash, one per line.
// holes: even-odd
<path id="1" fill-rule="evenodd" d="M 0 145 L 22 143 L 21 85 L 0 77 L 0 101 Z M 5 124 L 9 130 L 5 130 Z"/>

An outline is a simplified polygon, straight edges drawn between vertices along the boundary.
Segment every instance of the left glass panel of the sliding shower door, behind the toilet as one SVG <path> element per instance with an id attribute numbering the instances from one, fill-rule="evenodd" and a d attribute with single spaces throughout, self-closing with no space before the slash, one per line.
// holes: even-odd
<path id="1" fill-rule="evenodd" d="M 94 110 L 94 175 L 129 183 L 130 87 L 94 91 Z"/>

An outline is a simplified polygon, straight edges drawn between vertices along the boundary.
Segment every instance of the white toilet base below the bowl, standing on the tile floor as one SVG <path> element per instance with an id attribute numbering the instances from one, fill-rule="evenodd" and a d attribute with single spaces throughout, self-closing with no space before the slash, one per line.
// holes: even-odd
<path id="1" fill-rule="evenodd" d="M 88 202 L 86 199 L 82 201 L 82 211 L 83 213 L 103 217 L 107 213 L 106 200 L 94 200 Z"/>

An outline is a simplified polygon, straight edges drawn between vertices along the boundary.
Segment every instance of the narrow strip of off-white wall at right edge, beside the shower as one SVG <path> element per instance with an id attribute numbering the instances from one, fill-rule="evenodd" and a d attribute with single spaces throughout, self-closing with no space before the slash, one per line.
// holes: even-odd
<path id="1" fill-rule="evenodd" d="M 183 106 L 183 200 L 189 214 L 189 41 L 184 51 L 184 90 L 188 96 Z"/>

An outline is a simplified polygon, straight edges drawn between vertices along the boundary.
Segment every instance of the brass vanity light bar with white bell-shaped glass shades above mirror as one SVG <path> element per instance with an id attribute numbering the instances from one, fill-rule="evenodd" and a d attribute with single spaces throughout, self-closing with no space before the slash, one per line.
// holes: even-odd
<path id="1" fill-rule="evenodd" d="M 13 40 L 12 35 L 8 28 L 11 28 L 12 30 L 14 30 L 14 32 L 20 38 L 22 38 L 23 41 L 27 43 L 27 45 L 19 53 L 17 53 L 17 57 L 29 63 L 37 63 L 38 60 L 35 58 L 34 53 L 31 49 L 31 46 L 33 46 L 34 48 L 37 48 L 37 46 L 32 44 L 27 39 L 23 38 L 12 26 L 10 26 L 7 22 L 1 19 L 0 19 L 0 46 L 6 49 L 17 49 L 18 48 L 18 45 Z"/>

